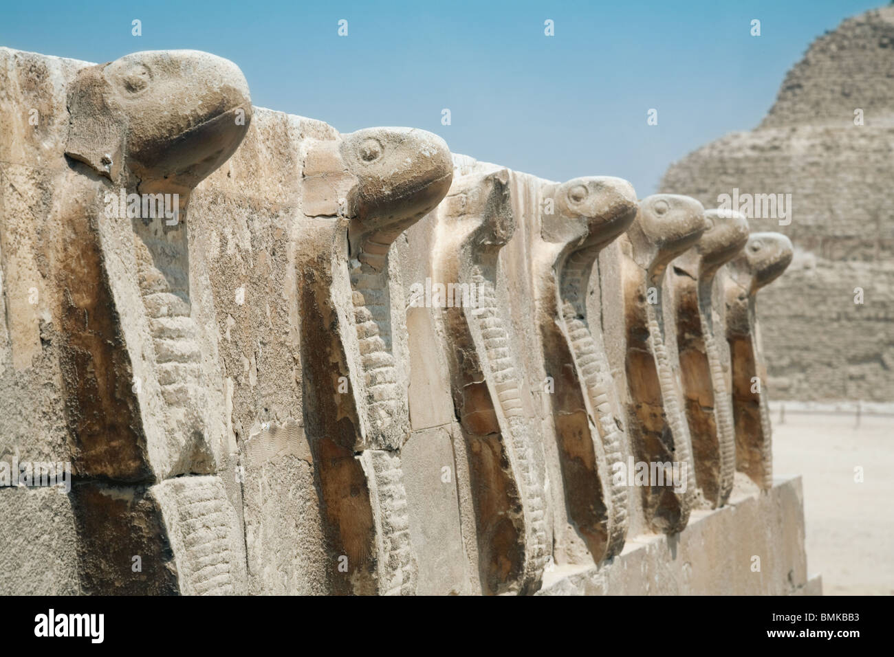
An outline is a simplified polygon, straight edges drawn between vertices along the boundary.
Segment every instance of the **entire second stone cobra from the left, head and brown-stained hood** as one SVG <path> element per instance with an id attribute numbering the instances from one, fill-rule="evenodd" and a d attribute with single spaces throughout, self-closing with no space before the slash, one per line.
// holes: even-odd
<path id="1" fill-rule="evenodd" d="M 389 250 L 450 188 L 450 151 L 426 131 L 372 128 L 306 152 L 304 213 L 319 222 L 296 246 L 301 341 L 325 522 L 349 564 L 336 590 L 411 594 L 406 310 Z"/>

